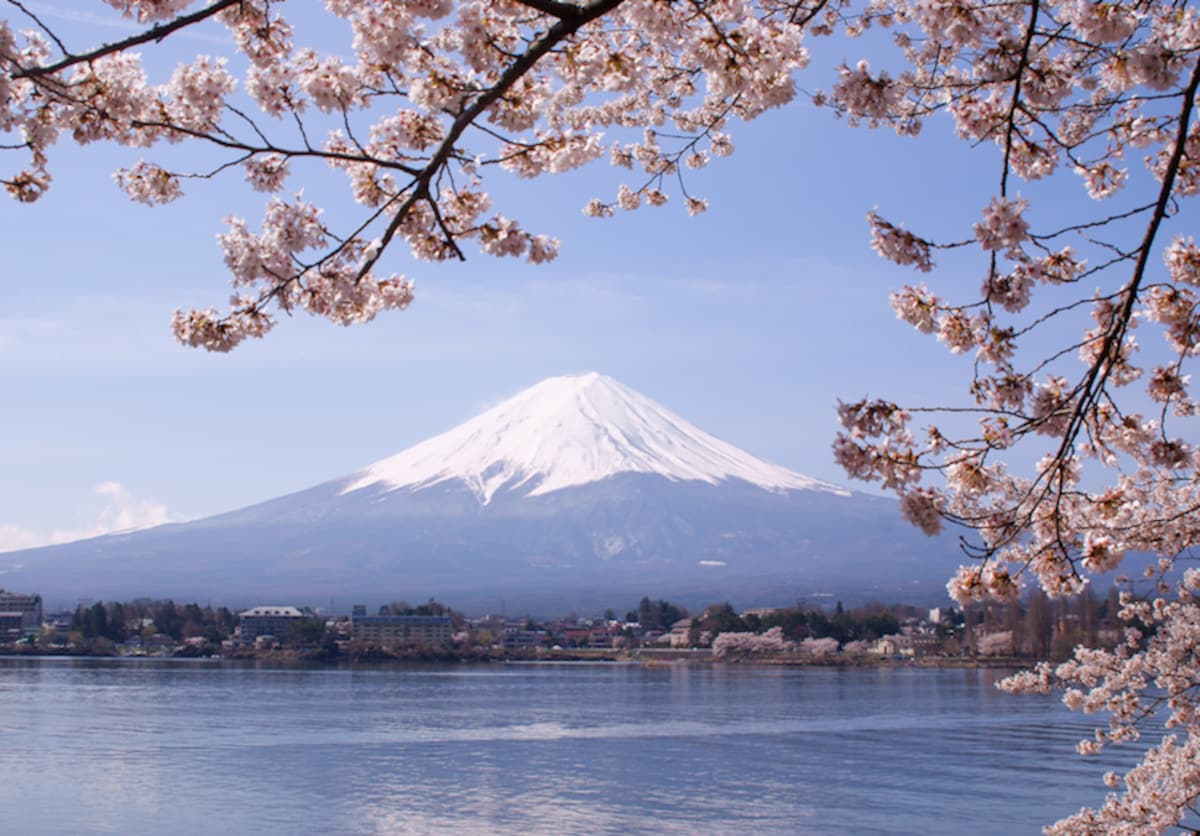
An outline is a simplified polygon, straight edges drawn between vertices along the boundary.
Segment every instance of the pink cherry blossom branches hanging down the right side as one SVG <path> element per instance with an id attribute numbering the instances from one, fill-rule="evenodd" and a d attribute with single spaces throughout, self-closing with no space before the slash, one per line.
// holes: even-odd
<path id="1" fill-rule="evenodd" d="M 834 455 L 850 475 L 896 492 L 905 517 L 928 534 L 965 533 L 976 559 L 948 584 L 962 602 L 1013 599 L 1033 584 L 1073 595 L 1128 554 L 1158 555 L 1147 576 L 1157 593 L 1127 600 L 1121 648 L 1079 649 L 1075 661 L 1008 686 L 1064 687 L 1070 708 L 1108 714 L 1085 753 L 1135 740 L 1164 712 L 1174 732 L 1127 775 L 1109 777 L 1120 792 L 1103 807 L 1052 832 L 1195 828 L 1200 576 L 1166 578 L 1200 543 L 1190 389 L 1200 249 L 1175 221 L 1200 192 L 1200 13 L 1087 0 L 838 8 L 824 19 L 830 32 L 890 28 L 906 70 L 844 68 L 822 103 L 901 133 L 948 110 L 960 137 L 1001 155 L 998 192 L 959 241 L 868 216 L 874 248 L 923 272 L 936 251 L 978 248 L 978 295 L 950 299 L 923 283 L 892 296 L 900 319 L 971 359 L 971 403 L 841 404 Z M 1060 169 L 1081 178 L 1097 215 L 1048 223 L 1013 188 L 1014 178 Z M 914 415 L 930 422 L 914 426 Z M 964 428 L 972 415 L 973 432 Z"/>

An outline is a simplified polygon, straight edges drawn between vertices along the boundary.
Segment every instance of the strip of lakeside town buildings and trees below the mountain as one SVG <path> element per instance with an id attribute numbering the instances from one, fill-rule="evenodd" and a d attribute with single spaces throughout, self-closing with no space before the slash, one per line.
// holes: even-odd
<path id="1" fill-rule="evenodd" d="M 798 603 L 691 614 L 643 597 L 624 613 L 558 618 L 467 615 L 430 600 L 348 613 L 292 603 L 245 609 L 146 597 L 82 601 L 49 612 L 36 593 L 0 589 L 0 654 L 175 656 L 286 661 L 642 658 L 774 663 L 1026 663 L 1064 658 L 1080 642 L 1118 639 L 1117 595 L 965 609 Z"/>

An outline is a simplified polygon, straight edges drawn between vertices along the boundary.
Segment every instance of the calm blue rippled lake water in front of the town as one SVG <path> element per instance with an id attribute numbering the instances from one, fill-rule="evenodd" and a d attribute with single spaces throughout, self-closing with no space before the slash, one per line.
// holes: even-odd
<path id="1" fill-rule="evenodd" d="M 1024 834 L 1115 764 L 990 670 L 0 658 L 20 834 Z"/>

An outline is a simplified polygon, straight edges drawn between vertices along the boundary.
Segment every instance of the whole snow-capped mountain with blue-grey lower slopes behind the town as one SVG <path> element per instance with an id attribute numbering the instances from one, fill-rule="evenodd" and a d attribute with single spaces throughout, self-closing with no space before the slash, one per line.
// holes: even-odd
<path id="1" fill-rule="evenodd" d="M 466 609 L 812 596 L 937 602 L 960 555 L 889 499 L 757 458 L 612 378 L 542 380 L 348 476 L 238 511 L 0 554 L 49 602 L 436 596 Z"/>

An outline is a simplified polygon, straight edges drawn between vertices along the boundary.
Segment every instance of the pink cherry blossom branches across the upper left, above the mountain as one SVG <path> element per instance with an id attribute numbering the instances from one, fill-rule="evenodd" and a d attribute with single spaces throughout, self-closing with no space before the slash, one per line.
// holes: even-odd
<path id="1" fill-rule="evenodd" d="M 683 172 L 732 154 L 727 121 L 791 101 L 808 61 L 794 7 L 778 0 L 328 0 L 353 35 L 349 60 L 295 43 L 282 0 L 103 1 L 154 26 L 76 52 L 36 18 L 20 31 L 0 22 L 0 138 L 11 140 L 0 145 L 26 161 L 0 175 L 12 197 L 49 188 L 52 149 L 65 138 L 192 142 L 226 162 L 182 172 L 144 160 L 116 172 L 118 185 L 154 205 L 182 197 L 188 178 L 240 169 L 280 196 L 302 164 L 323 162 L 362 208 L 348 230 L 299 198 L 272 197 L 257 230 L 230 218 L 229 308 L 174 318 L 180 341 L 211 350 L 266 333 L 278 309 L 349 324 L 406 307 L 412 282 L 376 275 L 398 241 L 421 260 L 464 258 L 468 242 L 498 258 L 553 259 L 557 240 L 492 210 L 488 167 L 535 178 L 608 157 L 641 179 L 588 203 L 589 215 L 660 206 L 672 187 L 697 215 L 708 202 L 688 193 Z M 208 19 L 239 54 L 200 55 L 154 82 L 138 50 Z M 245 65 L 240 77 L 234 65 Z M 606 136 L 630 128 L 641 138 Z"/>

